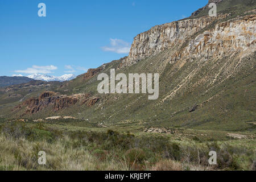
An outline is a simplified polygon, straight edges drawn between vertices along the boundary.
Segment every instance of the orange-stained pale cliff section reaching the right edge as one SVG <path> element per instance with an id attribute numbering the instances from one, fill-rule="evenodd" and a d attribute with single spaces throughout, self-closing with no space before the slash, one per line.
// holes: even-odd
<path id="1" fill-rule="evenodd" d="M 247 15 L 218 23 L 213 29 L 203 32 L 192 39 L 188 46 L 177 51 L 170 59 L 208 60 L 213 56 L 234 51 L 253 52 L 256 48 L 256 15 Z"/>

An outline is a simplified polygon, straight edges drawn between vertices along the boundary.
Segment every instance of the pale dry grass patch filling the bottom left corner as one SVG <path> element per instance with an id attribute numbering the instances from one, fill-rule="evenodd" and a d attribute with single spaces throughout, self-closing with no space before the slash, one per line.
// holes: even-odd
<path id="1" fill-rule="evenodd" d="M 1 135 L 0 170 L 125 170 L 115 160 L 98 160 L 85 147 L 67 147 L 69 140 L 65 137 L 49 144 L 45 140 L 28 142 Z M 46 152 L 46 166 L 38 164 L 39 148 Z"/>

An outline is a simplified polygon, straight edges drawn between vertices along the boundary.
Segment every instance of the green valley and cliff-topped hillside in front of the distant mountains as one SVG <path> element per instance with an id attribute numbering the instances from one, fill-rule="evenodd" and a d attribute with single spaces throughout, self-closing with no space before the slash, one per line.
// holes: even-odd
<path id="1" fill-rule="evenodd" d="M 72 80 L 1 87 L 0 169 L 255 170 L 256 2 L 210 2 L 216 17 L 205 6 L 152 27 Z"/>

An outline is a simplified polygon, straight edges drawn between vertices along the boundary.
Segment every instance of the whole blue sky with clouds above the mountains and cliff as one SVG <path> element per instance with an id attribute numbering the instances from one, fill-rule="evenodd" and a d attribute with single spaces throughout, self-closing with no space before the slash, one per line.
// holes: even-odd
<path id="1" fill-rule="evenodd" d="M 0 76 L 80 75 L 127 56 L 134 36 L 208 0 L 0 0 Z M 38 4 L 46 4 L 46 17 Z"/>

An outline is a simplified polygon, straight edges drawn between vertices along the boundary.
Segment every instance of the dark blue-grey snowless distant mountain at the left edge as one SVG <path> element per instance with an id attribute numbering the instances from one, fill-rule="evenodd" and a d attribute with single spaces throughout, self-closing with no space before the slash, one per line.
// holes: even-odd
<path id="1" fill-rule="evenodd" d="M 10 86 L 10 85 L 16 85 L 16 84 L 24 84 L 27 82 L 30 82 L 34 79 L 24 77 L 24 76 L 0 76 L 0 86 Z"/>

